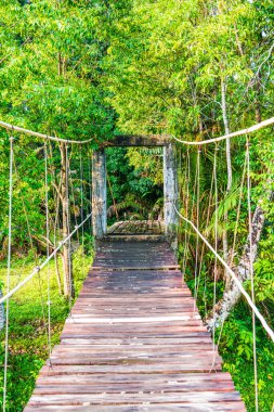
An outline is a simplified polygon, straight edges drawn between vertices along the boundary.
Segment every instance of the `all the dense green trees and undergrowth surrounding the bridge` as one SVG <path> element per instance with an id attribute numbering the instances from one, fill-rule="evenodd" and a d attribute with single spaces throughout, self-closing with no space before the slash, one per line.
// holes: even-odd
<path id="1" fill-rule="evenodd" d="M 62 139 L 69 147 L 70 229 L 90 213 L 91 154 L 117 133 L 165 133 L 201 141 L 235 131 L 274 113 L 274 5 L 272 0 L 1 0 L 0 120 Z M 251 208 L 264 218 L 255 261 L 256 304 L 274 326 L 273 127 L 250 134 Z M 49 142 L 50 239 L 45 237 L 44 144 L 14 133 L 12 286 L 62 239 L 62 144 Z M 0 286 L 5 291 L 9 208 L 9 136 L 0 130 Z M 232 267 L 248 236 L 245 137 L 203 146 L 178 144 L 181 211 L 197 221 Z M 108 149 L 109 223 L 162 217 L 162 154 L 149 149 Z M 197 179 L 197 164 L 199 177 Z M 218 207 L 212 191 L 218 156 Z M 231 159 L 232 166 L 227 167 Z M 64 166 L 64 164 L 63 164 Z M 185 170 L 191 170 L 190 175 Z M 79 178 L 80 176 L 80 178 Z M 199 188 L 199 190 L 197 189 Z M 240 201 L 240 206 L 238 207 Z M 58 204 L 58 206 L 56 206 Z M 56 207 L 58 207 L 56 209 Z M 237 219 L 237 208 L 239 219 Z M 57 210 L 57 211 L 56 211 Z M 214 222 L 218 220 L 217 232 Z M 63 221 L 64 223 L 64 221 Z M 81 235 L 83 234 L 83 241 Z M 186 247 L 185 239 L 188 241 Z M 77 295 L 93 256 L 90 223 L 74 239 Z M 182 221 L 179 259 L 195 293 L 197 241 Z M 199 255 L 198 305 L 205 319 L 230 288 L 208 250 Z M 58 268 L 58 270 L 56 270 Z M 52 339 L 68 313 L 62 255 L 50 266 Z M 58 276 L 56 276 L 58 273 Z M 22 411 L 48 356 L 44 274 L 11 300 L 9 411 Z M 244 282 L 250 293 L 250 279 Z M 252 325 L 244 299 L 223 324 L 220 352 L 248 411 L 255 411 Z M 4 343 L 4 334 L 1 333 Z M 274 350 L 257 323 L 260 411 L 274 401 Z M 4 346 L 0 351 L 0 363 Z M 2 368 L 1 368 L 2 370 Z M 2 371 L 1 371 L 2 373 Z M 29 377 L 27 379 L 27 377 Z M 0 387 L 3 376 L 0 376 Z M 1 389 L 1 388 L 0 388 Z M 0 405 L 1 405 L 0 397 Z"/>

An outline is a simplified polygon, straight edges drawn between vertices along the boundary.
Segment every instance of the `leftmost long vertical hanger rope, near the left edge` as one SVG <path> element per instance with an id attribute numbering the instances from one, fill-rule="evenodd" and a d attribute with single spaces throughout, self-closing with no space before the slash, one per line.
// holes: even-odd
<path id="1" fill-rule="evenodd" d="M 9 185 L 9 229 L 8 229 L 8 270 L 6 270 L 6 292 L 10 292 L 11 282 L 11 256 L 12 256 L 12 195 L 13 195 L 13 137 L 10 137 L 10 185 Z M 8 362 L 9 362 L 9 320 L 10 300 L 5 299 L 5 337 L 4 337 L 4 382 L 3 382 L 3 412 L 6 410 L 6 385 L 8 385 Z"/>

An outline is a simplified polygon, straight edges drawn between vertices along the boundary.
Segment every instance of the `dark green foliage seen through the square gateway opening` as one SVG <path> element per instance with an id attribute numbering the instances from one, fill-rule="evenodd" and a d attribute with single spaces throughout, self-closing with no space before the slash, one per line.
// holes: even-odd
<path id="1" fill-rule="evenodd" d="M 107 150 L 107 201 L 110 221 L 157 218 L 162 208 L 162 162 L 159 151 Z M 157 166 L 157 167 L 156 167 Z"/>

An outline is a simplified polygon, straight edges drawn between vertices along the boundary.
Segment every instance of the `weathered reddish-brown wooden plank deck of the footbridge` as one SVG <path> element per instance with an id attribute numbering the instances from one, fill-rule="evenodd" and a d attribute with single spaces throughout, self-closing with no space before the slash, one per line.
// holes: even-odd
<path id="1" fill-rule="evenodd" d="M 104 242 L 25 412 L 245 411 L 221 362 L 168 245 Z"/>

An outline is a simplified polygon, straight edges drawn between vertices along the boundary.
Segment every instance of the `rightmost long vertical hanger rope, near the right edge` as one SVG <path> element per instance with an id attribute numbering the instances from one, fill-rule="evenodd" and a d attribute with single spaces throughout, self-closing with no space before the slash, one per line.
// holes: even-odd
<path id="1" fill-rule="evenodd" d="M 255 304 L 255 276 L 253 276 L 253 245 L 252 245 L 252 216 L 251 216 L 251 179 L 250 179 L 250 153 L 249 139 L 247 140 L 246 158 L 247 158 L 247 205 L 248 205 L 248 227 L 249 227 L 249 271 L 251 281 L 251 299 Z M 253 372 L 255 372 L 255 405 L 256 412 L 259 411 L 258 400 L 258 370 L 257 370 L 257 346 L 256 346 L 256 317 L 252 311 L 252 334 L 253 334 Z"/>

